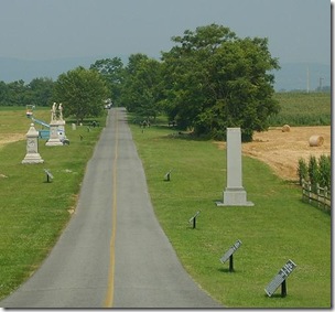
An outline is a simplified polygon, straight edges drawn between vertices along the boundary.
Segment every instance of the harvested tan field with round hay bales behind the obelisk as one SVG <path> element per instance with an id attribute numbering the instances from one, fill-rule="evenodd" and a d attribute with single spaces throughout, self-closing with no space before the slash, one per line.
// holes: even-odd
<path id="1" fill-rule="evenodd" d="M 300 158 L 306 161 L 310 155 L 331 154 L 331 126 L 327 127 L 291 127 L 290 132 L 282 128 L 271 128 L 267 132 L 256 132 L 253 141 L 242 144 L 246 155 L 268 163 L 279 176 L 285 180 L 298 180 L 296 168 Z M 310 147 L 311 136 L 322 136 L 321 147 Z M 220 148 L 225 143 L 219 144 Z"/>

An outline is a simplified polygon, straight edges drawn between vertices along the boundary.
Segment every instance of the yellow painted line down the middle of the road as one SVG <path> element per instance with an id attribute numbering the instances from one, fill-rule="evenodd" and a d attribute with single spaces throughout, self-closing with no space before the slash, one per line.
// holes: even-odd
<path id="1" fill-rule="evenodd" d="M 114 301 L 114 277 L 115 277 L 115 245 L 116 245 L 116 225 L 117 225 L 117 160 L 118 160 L 118 148 L 119 148 L 119 122 L 118 122 L 118 111 L 115 111 L 115 122 L 116 122 L 116 142 L 115 142 L 115 157 L 114 157 L 114 168 L 112 168 L 112 229 L 110 238 L 110 255 L 109 255 L 109 272 L 108 272 L 108 288 L 105 299 L 104 308 L 111 308 Z"/>

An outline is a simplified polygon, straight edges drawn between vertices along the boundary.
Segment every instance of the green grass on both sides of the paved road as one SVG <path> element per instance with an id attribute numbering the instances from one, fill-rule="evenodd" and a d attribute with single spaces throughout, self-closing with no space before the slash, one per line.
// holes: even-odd
<path id="1" fill-rule="evenodd" d="M 296 105 L 304 110 L 303 103 Z M 39 110 L 36 118 L 50 120 L 50 109 Z M 0 136 L 9 137 L 0 147 L 0 299 L 39 267 L 66 226 L 101 130 L 73 131 L 67 120 L 69 147 L 40 143 L 45 163 L 22 165 L 29 123 L 24 108 L 0 108 Z M 250 158 L 244 158 L 244 183 L 255 207 L 218 208 L 215 201 L 221 200 L 226 179 L 224 150 L 212 141 L 177 139 L 164 127 L 143 133 L 138 126 L 131 129 L 155 214 L 202 288 L 231 308 L 331 306 L 328 214 L 302 203 L 295 185 Z M 44 168 L 55 176 L 52 183 L 45 183 Z M 171 169 L 172 179 L 165 182 Z M 197 228 L 192 229 L 188 219 L 197 211 Z M 237 239 L 242 246 L 235 255 L 236 271 L 229 273 L 219 258 Z M 263 289 L 288 259 L 298 265 L 288 279 L 288 297 L 280 298 L 278 290 L 268 298 Z"/>

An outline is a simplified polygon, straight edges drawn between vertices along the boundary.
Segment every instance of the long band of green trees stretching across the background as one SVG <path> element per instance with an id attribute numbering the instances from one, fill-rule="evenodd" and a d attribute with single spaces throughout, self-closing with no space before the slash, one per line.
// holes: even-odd
<path id="1" fill-rule="evenodd" d="M 77 67 L 56 82 L 36 78 L 0 83 L 0 105 L 64 104 L 64 114 L 77 120 L 97 116 L 104 100 L 126 107 L 144 119 L 166 114 L 181 130 L 197 137 L 225 139 L 227 127 L 240 127 L 244 141 L 269 127 L 280 110 L 273 98 L 273 71 L 268 39 L 240 39 L 229 28 L 210 24 L 173 36 L 174 46 L 151 58 L 137 53 L 97 60 L 88 69 Z"/>

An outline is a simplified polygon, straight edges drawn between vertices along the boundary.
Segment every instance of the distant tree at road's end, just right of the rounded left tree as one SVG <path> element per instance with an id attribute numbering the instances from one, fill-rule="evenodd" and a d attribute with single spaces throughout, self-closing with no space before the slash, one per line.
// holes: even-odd
<path id="1" fill-rule="evenodd" d="M 90 65 L 90 69 L 96 69 L 100 73 L 107 83 L 110 90 L 109 97 L 115 105 L 119 104 L 121 96 L 121 86 L 123 83 L 123 63 L 120 57 L 97 60 Z"/>

